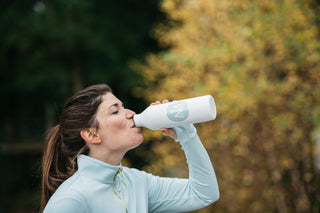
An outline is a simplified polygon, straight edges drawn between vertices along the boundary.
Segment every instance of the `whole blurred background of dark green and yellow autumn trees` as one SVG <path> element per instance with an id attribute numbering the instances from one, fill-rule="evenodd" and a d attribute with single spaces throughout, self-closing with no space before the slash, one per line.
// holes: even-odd
<path id="1" fill-rule="evenodd" d="M 37 212 L 48 128 L 109 84 L 127 108 L 211 94 L 197 124 L 221 197 L 198 210 L 320 211 L 319 0 L 0 1 L 0 210 Z M 187 177 L 158 131 L 124 164 Z"/>

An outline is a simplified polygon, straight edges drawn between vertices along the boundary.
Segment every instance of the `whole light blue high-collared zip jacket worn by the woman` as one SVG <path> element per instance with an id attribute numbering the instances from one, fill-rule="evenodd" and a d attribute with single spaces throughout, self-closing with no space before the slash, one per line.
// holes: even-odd
<path id="1" fill-rule="evenodd" d="M 186 212 L 218 200 L 216 175 L 196 129 L 174 129 L 187 158 L 189 179 L 157 177 L 80 155 L 78 171 L 56 190 L 44 213 Z"/>

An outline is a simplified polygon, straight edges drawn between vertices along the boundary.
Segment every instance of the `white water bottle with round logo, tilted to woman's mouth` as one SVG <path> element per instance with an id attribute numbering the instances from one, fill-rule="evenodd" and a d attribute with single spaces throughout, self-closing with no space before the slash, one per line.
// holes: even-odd
<path id="1" fill-rule="evenodd" d="M 217 110 L 211 95 L 152 105 L 133 117 L 136 127 L 152 130 L 171 128 L 188 123 L 214 120 Z"/>

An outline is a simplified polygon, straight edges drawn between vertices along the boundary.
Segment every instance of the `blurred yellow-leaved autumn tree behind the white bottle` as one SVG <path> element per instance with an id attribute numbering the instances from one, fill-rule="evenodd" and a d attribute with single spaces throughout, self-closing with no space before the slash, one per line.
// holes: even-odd
<path id="1" fill-rule="evenodd" d="M 217 119 L 197 127 L 221 198 L 199 212 L 319 211 L 312 135 L 320 126 L 320 41 L 310 5 L 162 2 L 168 21 L 157 26 L 155 37 L 167 50 L 133 65 L 148 87 L 137 93 L 149 101 L 215 98 Z M 159 137 L 146 134 L 150 140 Z M 168 141 L 152 145 L 146 169 L 176 172 L 184 160 L 178 149 Z"/>

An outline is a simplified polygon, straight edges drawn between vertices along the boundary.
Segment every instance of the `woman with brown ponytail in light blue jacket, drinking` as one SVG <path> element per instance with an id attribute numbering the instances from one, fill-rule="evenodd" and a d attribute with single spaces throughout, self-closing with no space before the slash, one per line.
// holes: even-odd
<path id="1" fill-rule="evenodd" d="M 47 136 L 41 212 L 184 212 L 219 198 L 211 161 L 193 125 L 161 129 L 181 144 L 189 179 L 123 167 L 125 153 L 143 141 L 134 114 L 105 84 L 67 101 L 60 124 Z"/>

